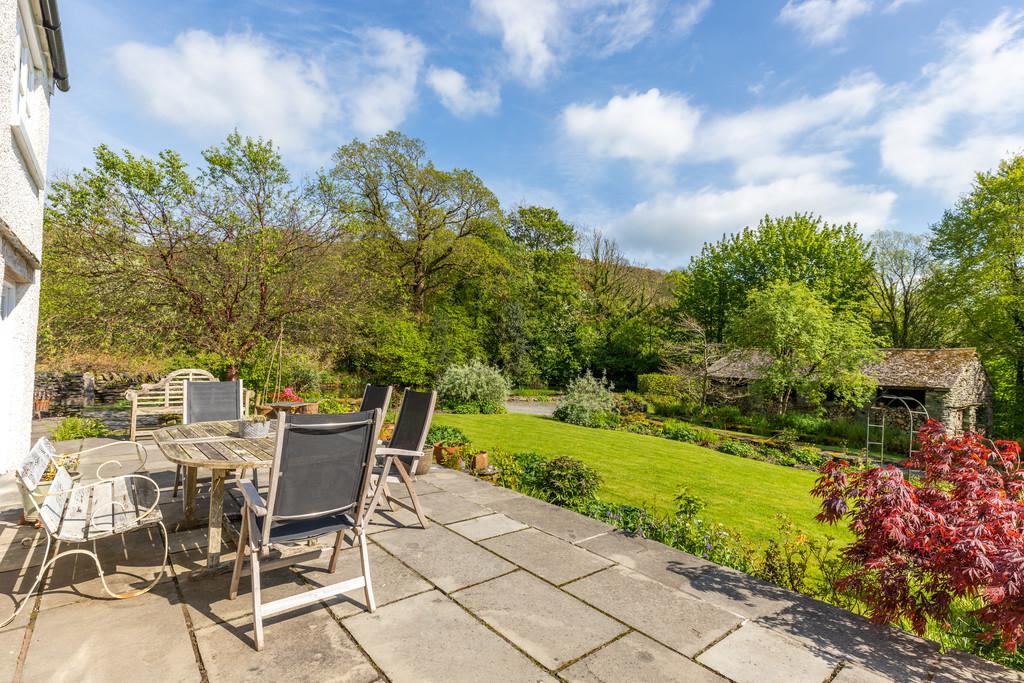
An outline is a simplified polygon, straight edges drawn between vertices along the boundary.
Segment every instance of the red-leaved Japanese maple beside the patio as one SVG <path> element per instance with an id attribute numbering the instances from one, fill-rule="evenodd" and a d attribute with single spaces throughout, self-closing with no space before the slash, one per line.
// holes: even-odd
<path id="1" fill-rule="evenodd" d="M 1024 472 L 1021 449 L 975 433 L 948 436 L 929 420 L 908 463 L 911 484 L 895 467 L 854 470 L 828 462 L 812 495 L 818 519 L 850 519 L 856 541 L 844 552 L 857 567 L 841 582 L 868 604 L 871 617 L 905 617 L 919 633 L 929 618 L 946 624 L 952 601 L 978 597 L 974 614 L 1008 648 L 1024 643 Z"/>

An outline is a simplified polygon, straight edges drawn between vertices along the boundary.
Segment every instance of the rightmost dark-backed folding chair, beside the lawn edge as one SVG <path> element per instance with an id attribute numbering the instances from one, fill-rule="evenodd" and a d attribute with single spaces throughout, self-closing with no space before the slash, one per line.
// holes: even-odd
<path id="1" fill-rule="evenodd" d="M 426 515 L 420 508 L 420 499 L 416 495 L 413 473 L 423 457 L 423 444 L 430 431 L 430 421 L 434 415 L 434 403 L 437 401 L 436 391 L 413 391 L 406 389 L 401 395 L 401 408 L 395 420 L 394 433 L 391 440 L 377 446 L 379 465 L 374 469 L 373 495 L 368 506 L 367 517 L 373 517 L 378 506 L 386 501 L 389 505 L 398 504 L 416 513 L 420 525 L 427 528 Z M 391 474 L 394 470 L 395 474 Z M 409 490 L 412 506 L 404 501 L 393 498 L 388 492 L 388 483 L 404 483 Z"/>

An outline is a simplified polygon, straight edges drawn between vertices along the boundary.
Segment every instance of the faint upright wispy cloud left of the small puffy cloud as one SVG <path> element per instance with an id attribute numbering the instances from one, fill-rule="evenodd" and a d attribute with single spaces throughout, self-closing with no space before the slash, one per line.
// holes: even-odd
<path id="1" fill-rule="evenodd" d="M 360 135 L 397 128 L 416 97 L 416 84 L 426 55 L 419 39 L 394 29 L 366 32 L 365 74 L 351 93 L 352 126 Z"/>

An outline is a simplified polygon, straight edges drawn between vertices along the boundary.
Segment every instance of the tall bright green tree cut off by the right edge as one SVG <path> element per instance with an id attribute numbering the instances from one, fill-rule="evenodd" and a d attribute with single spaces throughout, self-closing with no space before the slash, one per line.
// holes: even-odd
<path id="1" fill-rule="evenodd" d="M 999 404 L 996 429 L 1024 431 L 1024 156 L 979 173 L 932 229 L 947 269 L 942 303 L 982 351 Z"/>

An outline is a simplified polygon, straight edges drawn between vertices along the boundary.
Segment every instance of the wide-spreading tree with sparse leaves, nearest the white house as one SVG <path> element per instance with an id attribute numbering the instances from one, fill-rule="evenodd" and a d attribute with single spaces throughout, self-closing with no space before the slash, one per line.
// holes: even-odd
<path id="1" fill-rule="evenodd" d="M 54 183 L 50 279 L 76 280 L 111 318 L 239 366 L 310 306 L 303 283 L 337 236 L 330 187 L 295 186 L 272 143 L 229 135 L 191 174 L 106 146 Z M 145 309 L 142 309 L 144 302 Z"/>

